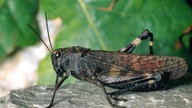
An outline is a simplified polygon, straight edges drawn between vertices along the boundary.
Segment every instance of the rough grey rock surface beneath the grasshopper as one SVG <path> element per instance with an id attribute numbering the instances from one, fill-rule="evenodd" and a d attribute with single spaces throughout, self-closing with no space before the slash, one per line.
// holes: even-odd
<path id="1" fill-rule="evenodd" d="M 13 90 L 0 99 L 0 108 L 44 108 L 53 92 L 50 86 L 31 86 Z M 118 104 L 128 108 L 192 108 L 192 75 L 170 82 L 167 90 L 130 92 Z M 64 85 L 56 94 L 53 108 L 110 108 L 103 91 L 90 83 Z"/>

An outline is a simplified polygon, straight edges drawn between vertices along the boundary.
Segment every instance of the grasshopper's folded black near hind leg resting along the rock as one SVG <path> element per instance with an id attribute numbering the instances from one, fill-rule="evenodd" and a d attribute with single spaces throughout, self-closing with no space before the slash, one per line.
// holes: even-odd
<path id="1" fill-rule="evenodd" d="M 169 73 L 153 73 L 150 77 L 140 78 L 124 83 L 122 89 L 108 93 L 108 95 L 115 101 L 121 101 L 122 99 L 119 99 L 118 96 L 130 91 L 145 92 L 162 89 L 168 82 L 169 75 L 167 74 Z M 123 99 L 123 101 L 125 101 L 125 99 Z"/>

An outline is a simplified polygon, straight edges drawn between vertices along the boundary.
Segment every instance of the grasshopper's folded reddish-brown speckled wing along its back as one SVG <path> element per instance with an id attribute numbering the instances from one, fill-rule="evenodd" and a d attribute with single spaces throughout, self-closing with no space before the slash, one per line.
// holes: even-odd
<path id="1" fill-rule="evenodd" d="M 170 72 L 170 79 L 177 79 L 187 71 L 186 62 L 179 57 L 133 55 L 110 51 L 87 52 L 83 57 L 94 63 L 103 72 L 125 72 L 132 74 L 149 74 Z M 130 72 L 131 71 L 131 72 Z"/>

